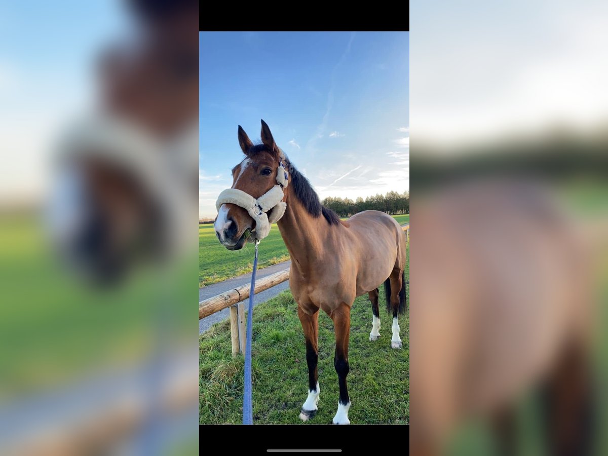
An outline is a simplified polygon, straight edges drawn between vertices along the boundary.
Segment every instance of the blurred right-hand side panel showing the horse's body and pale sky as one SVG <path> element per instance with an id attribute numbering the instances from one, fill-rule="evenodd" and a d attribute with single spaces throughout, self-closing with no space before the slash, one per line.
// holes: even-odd
<path id="1" fill-rule="evenodd" d="M 606 454 L 606 4 L 410 6 L 410 451 Z"/>

